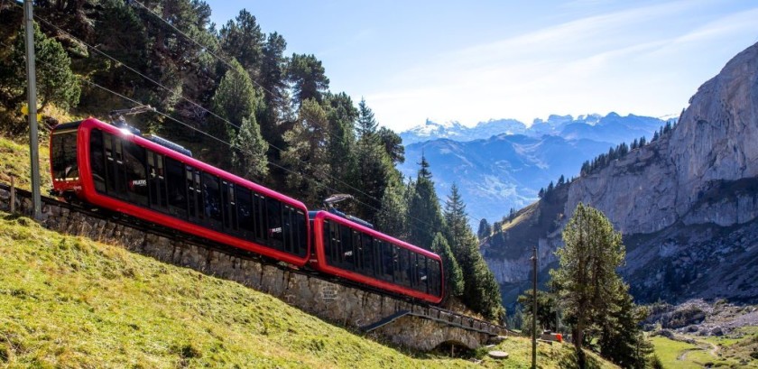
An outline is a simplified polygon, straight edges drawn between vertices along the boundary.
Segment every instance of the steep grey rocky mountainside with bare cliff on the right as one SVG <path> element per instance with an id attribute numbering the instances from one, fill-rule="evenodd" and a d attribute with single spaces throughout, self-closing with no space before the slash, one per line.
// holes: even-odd
<path id="1" fill-rule="evenodd" d="M 622 272 L 639 300 L 758 300 L 758 44 L 703 84 L 669 133 L 574 180 L 560 201 L 531 242 L 552 253 L 579 202 L 598 208 L 624 234 Z M 487 262 L 503 269 L 529 251 Z M 499 281 L 527 279 L 510 269 Z"/>

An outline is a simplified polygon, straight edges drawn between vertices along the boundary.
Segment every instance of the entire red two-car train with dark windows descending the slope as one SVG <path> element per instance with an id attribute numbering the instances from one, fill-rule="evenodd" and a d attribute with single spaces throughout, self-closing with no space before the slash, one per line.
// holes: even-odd
<path id="1" fill-rule="evenodd" d="M 439 303 L 439 255 L 88 118 L 51 137 L 53 193 L 349 281 Z"/>

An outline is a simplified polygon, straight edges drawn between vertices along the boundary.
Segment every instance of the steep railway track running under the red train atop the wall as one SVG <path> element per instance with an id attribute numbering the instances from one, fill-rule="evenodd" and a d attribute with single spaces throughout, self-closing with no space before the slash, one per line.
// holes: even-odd
<path id="1" fill-rule="evenodd" d="M 11 186 L 6 183 L 0 183 L 0 189 L 4 189 L 5 191 L 8 191 L 8 192 L 12 191 Z M 27 191 L 24 189 L 14 189 L 14 191 L 15 191 L 15 197 L 17 199 L 32 198 L 32 193 L 30 191 Z M 397 311 L 389 317 L 380 319 L 377 322 L 361 327 L 362 330 L 366 332 L 374 330 L 377 327 L 382 327 L 384 324 L 389 324 L 393 322 L 396 318 L 400 318 L 405 315 L 410 315 L 410 316 L 414 316 L 418 318 L 426 318 L 426 319 L 430 319 L 432 321 L 436 321 L 441 324 L 447 325 L 449 327 L 458 327 L 458 328 L 465 329 L 468 331 L 483 333 L 489 336 L 499 336 L 503 334 L 504 332 L 509 332 L 506 329 L 506 327 L 499 326 L 499 325 L 490 323 L 488 321 L 485 321 L 479 318 L 470 317 L 453 310 L 441 309 L 439 307 L 432 306 L 428 303 L 421 303 L 418 300 L 410 300 L 407 297 L 396 295 L 396 294 L 389 293 L 386 291 L 377 290 L 360 283 L 341 280 L 336 277 L 325 276 L 319 272 L 315 272 L 309 269 L 294 268 L 289 264 L 282 263 L 274 259 L 264 257 L 259 254 L 250 253 L 242 249 L 237 249 L 235 247 L 228 246 L 226 244 L 218 244 L 216 242 L 210 241 L 205 238 L 200 238 L 195 235 L 184 234 L 179 231 L 166 228 L 164 226 L 156 226 L 154 224 L 144 222 L 141 219 L 129 217 L 121 213 L 115 213 L 115 212 L 102 209 L 102 208 L 86 207 L 85 204 L 69 203 L 65 201 L 60 201 L 57 198 L 51 198 L 47 196 L 42 196 L 42 203 L 48 206 L 67 208 L 69 209 L 69 212 L 78 212 L 88 217 L 94 217 L 97 219 L 113 222 L 120 226 L 133 228 L 145 234 L 162 236 L 172 241 L 178 241 L 183 244 L 191 244 L 196 247 L 212 250 L 218 253 L 237 257 L 240 259 L 251 260 L 257 263 L 262 263 L 264 265 L 273 266 L 290 273 L 302 274 L 310 278 L 317 278 L 322 281 L 337 283 L 339 285 L 358 289 L 361 291 L 370 292 L 370 293 L 380 295 L 380 296 L 390 297 L 396 300 L 404 300 L 410 303 L 411 305 L 414 305 L 416 308 L 419 308 L 419 309 L 412 309 L 413 310 L 412 312 L 410 312 L 409 310 Z"/>

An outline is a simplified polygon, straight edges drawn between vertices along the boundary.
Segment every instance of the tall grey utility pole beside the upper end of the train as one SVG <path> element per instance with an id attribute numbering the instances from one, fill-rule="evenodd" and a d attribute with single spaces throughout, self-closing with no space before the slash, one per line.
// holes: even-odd
<path id="1" fill-rule="evenodd" d="M 23 20 L 26 24 L 26 82 L 29 106 L 29 153 L 32 158 L 32 215 L 34 219 L 42 218 L 42 199 L 40 198 L 40 143 L 37 136 L 37 75 L 34 65 L 34 17 L 32 0 L 23 1 Z"/>

